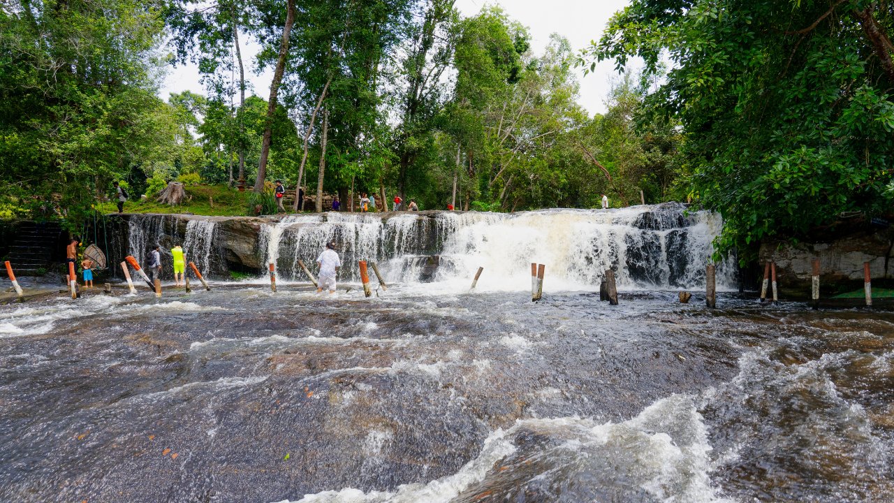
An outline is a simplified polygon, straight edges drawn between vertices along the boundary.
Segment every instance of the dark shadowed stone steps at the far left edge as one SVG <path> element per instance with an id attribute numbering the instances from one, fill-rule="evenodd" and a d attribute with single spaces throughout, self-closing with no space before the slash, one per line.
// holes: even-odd
<path id="1" fill-rule="evenodd" d="M 62 227 L 56 222 L 21 222 L 8 259 L 16 276 L 33 276 L 38 269 L 46 271 L 59 260 L 60 254 L 64 259 L 64 253 L 59 249 L 62 233 Z M 5 277 L 6 268 L 0 269 L 0 274 Z"/>

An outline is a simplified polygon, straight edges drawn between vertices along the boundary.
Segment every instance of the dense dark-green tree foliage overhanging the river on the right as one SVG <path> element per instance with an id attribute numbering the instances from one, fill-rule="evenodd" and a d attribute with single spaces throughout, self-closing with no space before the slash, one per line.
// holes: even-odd
<path id="1" fill-rule="evenodd" d="M 748 257 L 843 211 L 890 214 L 894 64 L 884 3 L 639 0 L 584 60 L 673 70 L 649 101 L 685 132 L 683 165 L 721 212 L 718 252 Z"/>

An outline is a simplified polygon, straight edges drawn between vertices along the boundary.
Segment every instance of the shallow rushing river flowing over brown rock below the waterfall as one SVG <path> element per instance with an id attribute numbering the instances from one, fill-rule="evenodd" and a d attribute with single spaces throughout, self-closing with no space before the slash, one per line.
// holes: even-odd
<path id="1" fill-rule="evenodd" d="M 0 500 L 894 494 L 890 312 L 346 287 L 0 306 Z"/>

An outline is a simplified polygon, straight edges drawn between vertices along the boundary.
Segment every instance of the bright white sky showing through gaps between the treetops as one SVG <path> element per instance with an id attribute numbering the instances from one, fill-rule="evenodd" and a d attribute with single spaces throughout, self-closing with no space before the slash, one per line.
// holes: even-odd
<path id="1" fill-rule="evenodd" d="M 571 47 L 577 51 L 598 39 L 611 15 L 622 9 L 628 0 L 456 0 L 460 13 L 466 16 L 477 14 L 487 4 L 497 4 L 515 21 L 528 27 L 532 48 L 541 53 L 552 33 L 559 33 L 569 39 Z M 242 38 L 244 39 L 244 38 Z M 243 61 L 249 64 L 257 54 L 257 44 L 249 43 L 242 48 Z M 246 68 L 246 79 L 250 81 L 249 92 L 266 98 L 273 78 L 272 69 L 256 75 Z M 580 82 L 578 102 L 592 115 L 605 112 L 605 98 L 611 89 L 611 81 L 617 77 L 614 64 L 603 61 L 597 64 L 595 72 Z M 169 93 L 191 90 L 204 94 L 199 82 L 198 67 L 188 64 L 170 69 L 159 90 L 159 96 L 167 98 Z"/>

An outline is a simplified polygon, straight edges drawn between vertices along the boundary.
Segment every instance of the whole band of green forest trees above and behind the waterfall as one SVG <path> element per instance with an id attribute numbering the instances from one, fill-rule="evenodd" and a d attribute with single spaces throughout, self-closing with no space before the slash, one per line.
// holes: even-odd
<path id="1" fill-rule="evenodd" d="M 890 215 L 892 9 L 635 0 L 593 47 L 556 34 L 535 53 L 498 7 L 452 0 L 3 0 L 0 211 L 77 222 L 116 180 L 131 198 L 281 179 L 492 211 L 642 193 L 720 211 L 718 252 L 749 250 Z M 273 70 L 264 96 L 246 92 L 247 39 Z M 619 77 L 589 115 L 576 67 L 605 59 Z M 158 98 L 187 61 L 204 92 Z"/>

